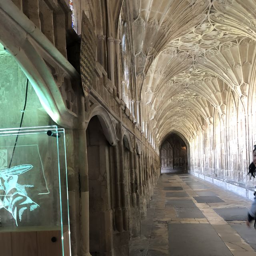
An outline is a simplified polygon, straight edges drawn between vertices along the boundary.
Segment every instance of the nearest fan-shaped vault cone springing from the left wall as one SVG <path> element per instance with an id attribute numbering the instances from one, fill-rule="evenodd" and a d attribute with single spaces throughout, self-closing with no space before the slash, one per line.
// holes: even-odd
<path id="1" fill-rule="evenodd" d="M 166 44 L 206 18 L 209 0 L 134 0 L 132 24 L 137 88 Z"/>

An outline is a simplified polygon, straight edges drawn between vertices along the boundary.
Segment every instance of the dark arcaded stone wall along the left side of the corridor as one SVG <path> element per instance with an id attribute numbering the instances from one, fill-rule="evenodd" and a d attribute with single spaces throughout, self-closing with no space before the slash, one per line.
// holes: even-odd
<path id="1" fill-rule="evenodd" d="M 66 1 L 8 0 L 0 6 L 1 13 L 10 19 L 0 29 L 0 41 L 33 87 L 28 94 L 30 115 L 24 125 L 56 122 L 66 128 L 72 256 L 129 255 L 129 240 L 141 234 L 140 221 L 146 218 L 160 175 L 160 158 L 152 137 L 140 127 L 129 29 L 128 50 L 122 53 L 129 73 L 122 69 L 118 26 L 122 4 L 117 3 L 118 14 L 102 1 L 94 4 L 86 12 L 92 14 L 89 19 L 97 36 L 97 60 L 95 79 L 86 96 L 78 72 L 66 59 L 72 54 L 67 54 L 66 40 L 78 38 L 70 32 L 71 12 Z M 123 12 L 128 14 L 125 9 Z M 7 35 L 7 29 L 15 32 Z M 2 63 L 12 65 L 5 60 Z M 9 72 L 20 78 L 12 80 L 10 94 L 3 94 L 5 117 L 1 120 L 13 127 L 19 115 L 13 115 L 10 101 L 16 94 L 15 108 L 22 105 L 26 76 L 20 71 Z M 130 84 L 122 91 L 124 81 Z M 8 115 L 12 123 L 7 122 Z"/>

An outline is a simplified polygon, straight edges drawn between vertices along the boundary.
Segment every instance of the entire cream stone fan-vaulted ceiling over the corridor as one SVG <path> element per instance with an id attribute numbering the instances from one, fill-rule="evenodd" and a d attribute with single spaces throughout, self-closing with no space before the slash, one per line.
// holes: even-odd
<path id="1" fill-rule="evenodd" d="M 232 91 L 247 102 L 255 68 L 255 0 L 133 0 L 136 84 L 144 121 L 160 143 L 188 140 Z"/>

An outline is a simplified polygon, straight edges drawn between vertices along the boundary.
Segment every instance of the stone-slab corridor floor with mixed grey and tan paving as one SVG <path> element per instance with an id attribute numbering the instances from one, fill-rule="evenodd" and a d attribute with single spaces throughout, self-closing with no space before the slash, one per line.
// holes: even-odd
<path id="1" fill-rule="evenodd" d="M 256 256 L 251 204 L 190 174 L 163 174 L 130 256 Z"/>

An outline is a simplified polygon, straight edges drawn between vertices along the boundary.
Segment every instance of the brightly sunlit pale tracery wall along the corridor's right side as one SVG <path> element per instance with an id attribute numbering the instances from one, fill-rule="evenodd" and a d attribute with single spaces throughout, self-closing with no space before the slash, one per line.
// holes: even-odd
<path id="1" fill-rule="evenodd" d="M 250 113 L 246 115 L 242 102 L 230 91 L 227 115 L 215 112 L 214 123 L 205 122 L 204 130 L 190 142 L 192 171 L 220 180 L 255 185 L 247 176 L 252 146 L 256 144 L 253 107 L 248 106 Z"/>

